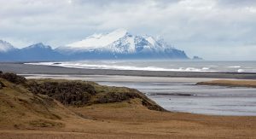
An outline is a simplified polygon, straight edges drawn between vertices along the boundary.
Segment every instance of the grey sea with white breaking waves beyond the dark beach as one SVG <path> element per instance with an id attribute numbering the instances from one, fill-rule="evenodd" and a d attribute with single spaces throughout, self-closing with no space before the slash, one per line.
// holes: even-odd
<path id="1" fill-rule="evenodd" d="M 113 70 L 256 72 L 256 61 L 53 61 L 26 64 Z"/>

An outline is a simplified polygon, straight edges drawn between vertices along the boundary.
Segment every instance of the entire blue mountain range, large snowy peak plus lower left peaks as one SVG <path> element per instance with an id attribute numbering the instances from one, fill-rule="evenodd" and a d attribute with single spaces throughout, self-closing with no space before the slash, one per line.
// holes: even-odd
<path id="1" fill-rule="evenodd" d="M 189 59 L 163 39 L 134 36 L 124 29 L 93 34 L 81 41 L 52 49 L 36 43 L 23 49 L 0 40 L 0 61 L 69 61 L 106 59 Z"/>

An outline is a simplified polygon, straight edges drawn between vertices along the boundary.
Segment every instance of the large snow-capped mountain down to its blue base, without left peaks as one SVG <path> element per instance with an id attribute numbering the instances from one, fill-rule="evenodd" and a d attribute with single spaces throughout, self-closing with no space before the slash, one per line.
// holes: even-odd
<path id="1" fill-rule="evenodd" d="M 63 55 L 79 55 L 86 59 L 112 58 L 176 58 L 187 59 L 182 51 L 151 36 L 134 36 L 124 29 L 107 34 L 93 34 L 79 42 L 56 49 Z"/>

